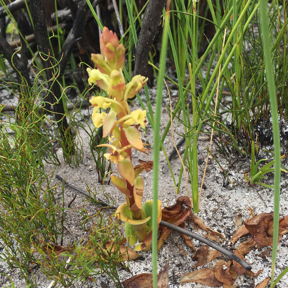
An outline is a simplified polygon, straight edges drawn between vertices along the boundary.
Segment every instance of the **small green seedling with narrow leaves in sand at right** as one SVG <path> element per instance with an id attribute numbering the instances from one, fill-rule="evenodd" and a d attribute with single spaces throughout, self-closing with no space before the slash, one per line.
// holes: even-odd
<path id="1" fill-rule="evenodd" d="M 258 170 L 258 166 L 262 161 L 267 161 L 267 159 L 260 159 L 259 161 L 257 161 L 257 163 L 255 164 L 255 147 L 254 147 L 254 141 L 252 141 L 251 144 L 251 167 L 250 167 L 250 179 L 248 177 L 248 172 L 246 172 L 244 174 L 244 179 L 248 182 L 248 184 L 250 186 L 255 186 L 256 184 L 262 185 L 264 187 L 268 187 L 268 188 L 273 188 L 274 185 L 268 185 L 265 183 L 260 182 L 261 179 L 264 179 L 266 177 L 265 174 L 269 173 L 269 172 L 274 172 L 274 168 L 270 168 L 275 160 L 267 163 L 266 165 L 264 165 L 259 171 Z M 283 156 L 281 156 L 281 160 L 284 159 L 286 157 L 287 154 L 284 154 Z M 286 170 L 281 169 L 282 172 L 288 173 Z"/>

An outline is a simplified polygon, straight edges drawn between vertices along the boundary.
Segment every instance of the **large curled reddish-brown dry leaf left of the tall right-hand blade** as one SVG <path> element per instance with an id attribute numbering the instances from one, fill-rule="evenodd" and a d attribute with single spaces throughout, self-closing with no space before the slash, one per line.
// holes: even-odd
<path id="1" fill-rule="evenodd" d="M 273 212 L 261 213 L 244 222 L 254 241 L 261 246 L 273 246 L 273 234 L 268 235 L 268 228 L 273 223 Z M 272 229 L 273 230 L 273 229 Z M 278 239 L 279 243 L 280 239 Z"/>

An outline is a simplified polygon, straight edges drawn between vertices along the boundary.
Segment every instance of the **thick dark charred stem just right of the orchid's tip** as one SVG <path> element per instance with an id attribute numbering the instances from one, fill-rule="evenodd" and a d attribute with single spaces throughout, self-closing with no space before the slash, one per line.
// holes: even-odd
<path id="1" fill-rule="evenodd" d="M 133 75 L 147 75 L 149 52 L 152 47 L 164 4 L 167 0 L 149 1 L 142 21 L 142 28 L 138 37 L 135 67 Z"/>

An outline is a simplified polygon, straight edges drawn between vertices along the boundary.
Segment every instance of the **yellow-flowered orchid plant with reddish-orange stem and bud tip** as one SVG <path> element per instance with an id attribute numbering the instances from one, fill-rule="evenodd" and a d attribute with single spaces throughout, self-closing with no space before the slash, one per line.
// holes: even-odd
<path id="1" fill-rule="evenodd" d="M 108 97 L 92 96 L 90 103 L 94 107 L 92 121 L 96 128 L 103 125 L 103 137 L 109 135 L 109 143 L 97 147 L 109 147 L 104 157 L 118 167 L 120 177 L 111 174 L 113 184 L 126 196 L 115 215 L 126 222 L 126 238 L 135 250 L 148 251 L 152 239 L 152 200 L 142 204 L 144 180 L 140 177 L 143 170 L 153 168 L 152 161 L 142 161 L 133 166 L 131 149 L 147 154 L 145 144 L 141 140 L 139 126 L 146 126 L 146 110 L 130 111 L 127 100 L 134 97 L 145 85 L 148 78 L 136 75 L 126 84 L 123 75 L 125 48 L 119 43 L 116 33 L 104 27 L 100 37 L 101 54 L 91 54 L 91 60 L 97 69 L 87 68 L 88 83 L 97 84 L 105 90 Z M 101 112 L 106 109 L 106 112 Z M 158 226 L 161 220 L 161 202 L 158 200 Z M 158 228 L 158 227 L 157 227 Z"/>

